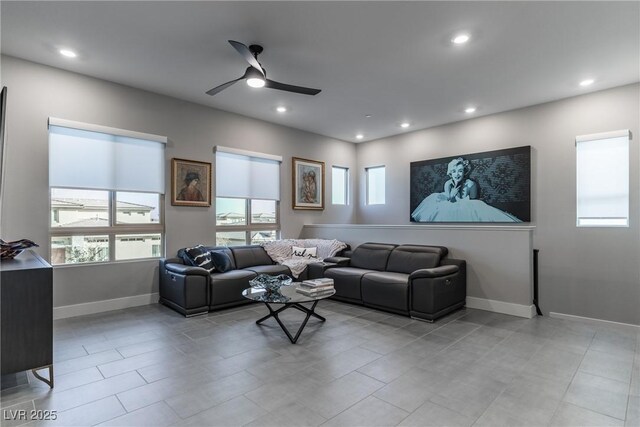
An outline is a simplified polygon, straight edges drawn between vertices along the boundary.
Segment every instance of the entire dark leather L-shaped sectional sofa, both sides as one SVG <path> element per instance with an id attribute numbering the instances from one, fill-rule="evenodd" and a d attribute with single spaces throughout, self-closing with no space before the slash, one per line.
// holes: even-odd
<path id="1" fill-rule="evenodd" d="M 207 247 L 231 259 L 231 270 L 209 273 L 188 265 L 184 250 L 160 260 L 160 302 L 185 316 L 251 301 L 242 296 L 258 274 L 291 275 L 274 264 L 257 245 Z M 310 278 L 330 277 L 340 301 L 433 321 L 464 306 L 467 271 L 464 260 L 447 258 L 443 246 L 364 243 L 353 251 L 309 264 Z M 299 278 L 303 280 L 305 277 Z"/>

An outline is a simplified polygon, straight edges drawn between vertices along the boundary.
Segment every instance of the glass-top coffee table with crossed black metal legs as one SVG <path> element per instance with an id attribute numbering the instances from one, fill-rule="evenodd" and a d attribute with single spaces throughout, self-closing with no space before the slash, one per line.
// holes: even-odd
<path id="1" fill-rule="evenodd" d="M 264 305 L 266 305 L 267 308 L 269 309 L 269 314 L 267 314 L 261 319 L 256 320 L 256 324 L 259 325 L 265 320 L 269 319 L 270 317 L 273 317 L 274 319 L 276 319 L 276 322 L 278 322 L 278 324 L 280 325 L 284 333 L 287 334 L 287 337 L 289 338 L 292 344 L 295 344 L 298 341 L 298 338 L 300 337 L 302 330 L 304 329 L 305 326 L 307 326 L 307 322 L 309 321 L 309 318 L 311 316 L 319 319 L 322 322 L 327 320 L 315 312 L 316 305 L 318 305 L 318 302 L 320 300 L 329 298 L 331 295 L 336 293 L 335 290 L 331 290 L 330 292 L 325 292 L 322 295 L 306 296 L 296 292 L 297 287 L 298 287 L 297 283 L 293 283 L 288 286 L 282 286 L 279 292 L 267 292 L 265 289 L 261 289 L 261 288 L 247 288 L 244 291 L 242 291 L 242 296 L 253 301 L 263 302 Z M 313 304 L 311 305 L 311 307 L 305 307 L 304 305 L 302 305 L 302 303 L 305 303 L 305 302 L 311 302 Z M 271 305 L 274 305 L 274 304 L 282 304 L 282 307 L 278 308 L 277 310 L 274 310 L 271 307 Z M 307 317 L 305 317 L 304 321 L 302 322 L 302 325 L 300 325 L 300 328 L 298 329 L 298 332 L 296 332 L 295 336 L 291 335 L 291 332 L 289 332 L 289 330 L 286 328 L 284 323 L 282 323 L 282 321 L 278 317 L 278 314 L 280 314 L 281 312 L 285 311 L 288 308 L 295 308 L 307 314 Z"/>

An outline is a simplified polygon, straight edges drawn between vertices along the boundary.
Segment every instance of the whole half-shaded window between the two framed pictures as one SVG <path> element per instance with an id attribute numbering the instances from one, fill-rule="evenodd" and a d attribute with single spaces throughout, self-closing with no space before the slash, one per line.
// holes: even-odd
<path id="1" fill-rule="evenodd" d="M 237 246 L 280 235 L 282 157 L 216 147 L 216 244 Z"/>

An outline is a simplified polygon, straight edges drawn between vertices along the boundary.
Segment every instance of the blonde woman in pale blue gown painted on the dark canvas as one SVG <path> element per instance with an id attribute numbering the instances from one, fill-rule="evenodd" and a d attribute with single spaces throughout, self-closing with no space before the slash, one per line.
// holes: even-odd
<path id="1" fill-rule="evenodd" d="M 469 178 L 469 160 L 449 162 L 442 193 L 432 193 L 411 214 L 417 222 L 522 222 L 515 216 L 478 200 L 478 184 Z"/>

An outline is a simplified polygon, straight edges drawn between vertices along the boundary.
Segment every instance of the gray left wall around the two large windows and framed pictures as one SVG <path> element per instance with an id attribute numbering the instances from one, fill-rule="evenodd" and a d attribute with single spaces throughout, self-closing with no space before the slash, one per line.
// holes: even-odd
<path id="1" fill-rule="evenodd" d="M 283 237 L 297 237 L 305 223 L 351 223 L 354 204 L 324 211 L 291 209 L 291 157 L 303 157 L 354 170 L 355 145 L 3 56 L 2 85 L 7 103 L 7 170 L 2 201 L 1 236 L 29 238 L 48 259 L 49 116 L 165 135 L 167 196 L 166 250 L 215 243 L 215 208 L 177 207 L 170 203 L 172 157 L 212 162 L 213 146 L 224 145 L 284 157 L 281 168 Z M 352 187 L 355 174 L 352 173 Z M 327 174 L 327 190 L 331 188 Z M 330 200 L 330 194 L 326 196 Z M 354 194 L 354 196 L 357 196 Z M 355 199 L 357 200 L 357 199 Z M 54 305 L 122 298 L 157 292 L 157 262 L 135 261 L 101 266 L 69 266 L 54 271 Z"/>

